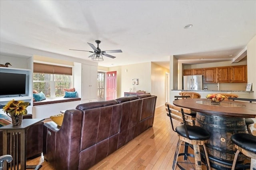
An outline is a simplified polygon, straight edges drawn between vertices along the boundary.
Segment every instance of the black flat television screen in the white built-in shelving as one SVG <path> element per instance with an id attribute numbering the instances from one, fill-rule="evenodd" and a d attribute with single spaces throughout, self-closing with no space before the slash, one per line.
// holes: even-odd
<path id="1" fill-rule="evenodd" d="M 26 94 L 26 74 L 0 72 L 0 95 Z"/>

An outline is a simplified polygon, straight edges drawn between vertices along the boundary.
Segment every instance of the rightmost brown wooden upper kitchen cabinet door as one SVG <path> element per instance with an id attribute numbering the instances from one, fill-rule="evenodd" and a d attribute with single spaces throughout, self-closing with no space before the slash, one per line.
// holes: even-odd
<path id="1" fill-rule="evenodd" d="M 247 82 L 247 66 L 231 66 L 231 82 L 246 83 Z"/>

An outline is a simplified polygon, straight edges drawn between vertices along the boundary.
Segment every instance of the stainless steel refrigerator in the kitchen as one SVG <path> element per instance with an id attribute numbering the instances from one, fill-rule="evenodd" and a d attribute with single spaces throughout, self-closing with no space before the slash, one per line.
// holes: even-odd
<path id="1" fill-rule="evenodd" d="M 183 76 L 183 89 L 184 90 L 203 90 L 203 76 Z"/>

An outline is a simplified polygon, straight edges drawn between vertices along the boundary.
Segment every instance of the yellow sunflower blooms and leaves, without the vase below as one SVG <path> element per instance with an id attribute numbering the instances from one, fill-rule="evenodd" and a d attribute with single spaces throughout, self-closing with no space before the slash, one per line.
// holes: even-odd
<path id="1" fill-rule="evenodd" d="M 3 107 L 3 111 L 4 113 L 9 113 L 11 116 L 26 115 L 28 113 L 26 109 L 28 105 L 29 102 L 17 101 L 13 99 Z"/>

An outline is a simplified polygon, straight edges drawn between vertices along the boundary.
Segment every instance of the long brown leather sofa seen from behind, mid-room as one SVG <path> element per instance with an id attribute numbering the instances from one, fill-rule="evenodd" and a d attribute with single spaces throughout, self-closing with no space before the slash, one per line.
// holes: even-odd
<path id="1" fill-rule="evenodd" d="M 57 170 L 85 170 L 152 127 L 156 96 L 80 104 L 62 126 L 44 123 L 44 158 Z"/>

